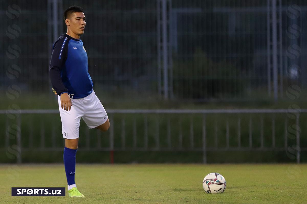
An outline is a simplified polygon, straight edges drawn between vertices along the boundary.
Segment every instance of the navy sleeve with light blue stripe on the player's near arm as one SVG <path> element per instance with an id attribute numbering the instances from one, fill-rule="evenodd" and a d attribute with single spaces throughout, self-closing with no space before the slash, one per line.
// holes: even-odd
<path id="1" fill-rule="evenodd" d="M 67 58 L 68 42 L 66 41 L 68 41 L 67 38 L 60 38 L 54 43 L 49 65 L 51 84 L 57 95 L 61 95 L 63 92 L 67 93 L 67 89 L 61 79 L 61 70 Z"/>

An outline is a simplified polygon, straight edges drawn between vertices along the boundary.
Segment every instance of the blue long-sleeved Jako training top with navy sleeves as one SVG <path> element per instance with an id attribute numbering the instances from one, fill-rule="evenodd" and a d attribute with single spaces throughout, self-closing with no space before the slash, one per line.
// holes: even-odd
<path id="1" fill-rule="evenodd" d="M 49 66 L 52 86 L 58 95 L 84 98 L 93 91 L 83 42 L 63 34 L 52 46 Z"/>

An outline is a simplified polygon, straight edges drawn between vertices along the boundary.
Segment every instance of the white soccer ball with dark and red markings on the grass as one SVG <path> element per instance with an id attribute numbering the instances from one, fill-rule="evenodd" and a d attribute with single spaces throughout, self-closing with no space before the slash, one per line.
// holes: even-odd
<path id="1" fill-rule="evenodd" d="M 223 193 L 226 180 L 219 173 L 209 173 L 203 180 L 203 188 L 207 193 Z"/>

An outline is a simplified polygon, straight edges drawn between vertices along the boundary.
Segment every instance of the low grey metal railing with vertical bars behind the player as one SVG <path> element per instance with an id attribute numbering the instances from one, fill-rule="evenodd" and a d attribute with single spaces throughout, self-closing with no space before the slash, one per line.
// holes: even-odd
<path id="1" fill-rule="evenodd" d="M 108 110 L 108 132 L 80 126 L 82 151 L 284 151 L 299 163 L 307 150 L 307 110 Z M 62 151 L 58 110 L 0 111 L 7 151 Z M 13 148 L 14 149 L 14 148 Z M 21 156 L 17 162 L 21 161 Z"/>

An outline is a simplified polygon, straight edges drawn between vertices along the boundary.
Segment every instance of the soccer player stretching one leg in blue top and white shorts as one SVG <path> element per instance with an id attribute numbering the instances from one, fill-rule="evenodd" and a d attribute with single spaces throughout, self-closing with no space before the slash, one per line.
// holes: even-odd
<path id="1" fill-rule="evenodd" d="M 64 167 L 70 197 L 84 197 L 76 187 L 76 152 L 79 140 L 80 118 L 88 128 L 107 131 L 110 122 L 103 105 L 95 95 L 88 73 L 87 53 L 80 35 L 84 33 L 85 16 L 79 6 L 64 12 L 67 33 L 53 44 L 49 66 L 53 91 L 58 97 L 62 134 L 65 138 Z"/>

